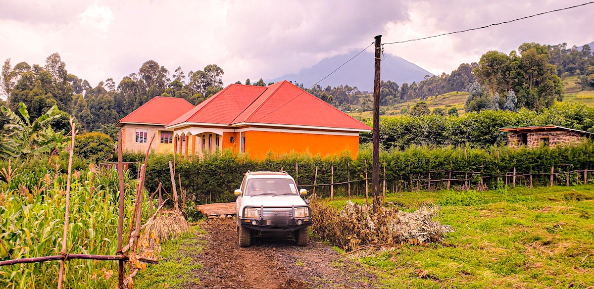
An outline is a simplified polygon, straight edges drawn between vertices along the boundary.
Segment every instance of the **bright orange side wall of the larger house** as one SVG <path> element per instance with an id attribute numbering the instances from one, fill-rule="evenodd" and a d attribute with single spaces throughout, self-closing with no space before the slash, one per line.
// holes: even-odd
<path id="1" fill-rule="evenodd" d="M 239 134 L 236 134 L 236 145 L 239 145 L 238 137 Z M 350 151 L 355 158 L 359 152 L 359 136 L 247 131 L 245 151 L 252 158 L 266 157 L 269 151 L 277 155 L 308 152 L 311 155 L 321 154 L 323 157 Z"/>

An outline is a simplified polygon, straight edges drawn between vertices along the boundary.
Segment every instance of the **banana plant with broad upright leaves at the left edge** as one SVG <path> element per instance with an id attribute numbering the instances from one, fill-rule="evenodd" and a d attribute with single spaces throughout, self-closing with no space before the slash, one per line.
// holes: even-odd
<path id="1" fill-rule="evenodd" d="M 31 122 L 27 106 L 20 103 L 18 112 L 15 112 L 2 106 L 0 109 L 8 117 L 10 123 L 4 125 L 4 129 L 10 133 L 4 137 L 0 144 L 0 156 L 19 158 L 22 156 L 48 153 L 52 149 L 60 148 L 64 145 L 64 133 L 56 132 L 49 125 L 52 119 L 58 117 L 58 107 L 52 106 L 50 109 Z"/>

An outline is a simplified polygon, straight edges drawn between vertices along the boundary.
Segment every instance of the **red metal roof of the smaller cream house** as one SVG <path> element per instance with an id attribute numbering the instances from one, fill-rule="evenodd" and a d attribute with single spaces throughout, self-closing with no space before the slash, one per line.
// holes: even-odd
<path id="1" fill-rule="evenodd" d="M 118 123 L 156 123 L 166 125 L 194 107 L 185 99 L 156 96 Z"/>

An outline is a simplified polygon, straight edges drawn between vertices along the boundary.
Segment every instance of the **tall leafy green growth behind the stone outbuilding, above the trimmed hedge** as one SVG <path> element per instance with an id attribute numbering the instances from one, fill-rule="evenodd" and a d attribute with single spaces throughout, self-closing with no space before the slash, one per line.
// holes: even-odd
<path id="1" fill-rule="evenodd" d="M 368 125 L 372 123 L 368 120 Z M 391 116 L 380 121 L 380 142 L 384 149 L 404 150 L 410 145 L 469 145 L 488 148 L 504 145 L 507 133 L 500 128 L 530 125 L 559 125 L 594 132 L 594 108 L 580 104 L 555 104 L 542 113 L 530 110 L 508 112 L 483 110 L 465 116 Z M 361 134 L 361 143 L 371 142 L 371 132 Z"/>

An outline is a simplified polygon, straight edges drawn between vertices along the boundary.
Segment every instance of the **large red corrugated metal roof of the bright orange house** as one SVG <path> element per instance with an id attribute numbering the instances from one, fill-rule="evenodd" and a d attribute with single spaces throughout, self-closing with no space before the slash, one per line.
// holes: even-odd
<path id="1" fill-rule="evenodd" d="M 229 85 L 168 126 L 184 122 L 371 129 L 286 80 L 268 87 Z"/>

